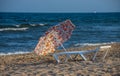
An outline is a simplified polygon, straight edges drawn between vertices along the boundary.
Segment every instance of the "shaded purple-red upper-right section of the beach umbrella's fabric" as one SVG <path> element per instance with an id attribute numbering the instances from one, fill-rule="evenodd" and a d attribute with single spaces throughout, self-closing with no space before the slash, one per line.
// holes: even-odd
<path id="1" fill-rule="evenodd" d="M 67 41 L 70 38 L 74 28 L 75 28 L 75 25 L 72 24 L 70 20 L 66 20 L 56 26 L 51 27 L 50 29 L 48 29 L 48 31 L 45 34 L 47 35 L 53 32 L 55 38 L 57 39 L 57 40 L 54 40 L 53 42 L 54 42 L 54 45 L 58 47 L 60 46 L 61 43 Z"/>

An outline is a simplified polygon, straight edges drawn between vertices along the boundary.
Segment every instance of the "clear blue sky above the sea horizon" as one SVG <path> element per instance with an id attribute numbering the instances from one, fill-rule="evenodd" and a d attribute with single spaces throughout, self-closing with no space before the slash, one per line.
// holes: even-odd
<path id="1" fill-rule="evenodd" d="M 0 0 L 0 12 L 120 12 L 120 0 Z"/>

